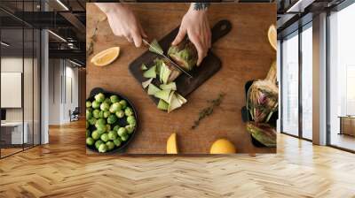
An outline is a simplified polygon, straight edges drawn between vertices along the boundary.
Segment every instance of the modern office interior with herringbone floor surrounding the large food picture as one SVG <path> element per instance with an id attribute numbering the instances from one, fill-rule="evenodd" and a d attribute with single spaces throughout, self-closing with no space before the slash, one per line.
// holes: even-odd
<path id="1" fill-rule="evenodd" d="M 84 155 L 84 0 L 1 1 L 0 175 L 19 187 L 0 181 L 0 194 L 10 189 L 8 196 L 28 192 L 33 196 L 157 197 L 184 196 L 187 192 L 216 197 L 227 196 L 226 191 L 233 188 L 250 197 L 352 197 L 355 180 L 349 175 L 355 173 L 351 168 L 355 163 L 355 89 L 351 86 L 355 83 L 355 28 L 351 23 L 355 3 L 263 2 L 278 7 L 278 154 L 164 159 Z M 72 121 L 76 108 L 79 121 Z M 164 170 L 167 164 L 171 170 Z M 45 170 L 43 175 L 36 175 L 38 169 Z M 159 176 L 161 169 L 168 172 L 162 174 L 165 180 Z M 98 174 L 98 170 L 112 177 Z M 187 177 L 189 173 L 197 179 Z M 23 175 L 36 175 L 35 183 L 45 185 L 36 187 Z M 225 175 L 238 184 L 217 182 Z M 122 179 L 130 185 L 120 190 L 106 185 L 122 185 L 117 182 Z M 148 185 L 147 180 L 154 185 Z M 169 188 L 166 184 L 169 193 L 161 189 Z M 107 187 L 106 192 L 100 191 L 102 187 Z M 146 194 L 137 193 L 135 187 Z"/>

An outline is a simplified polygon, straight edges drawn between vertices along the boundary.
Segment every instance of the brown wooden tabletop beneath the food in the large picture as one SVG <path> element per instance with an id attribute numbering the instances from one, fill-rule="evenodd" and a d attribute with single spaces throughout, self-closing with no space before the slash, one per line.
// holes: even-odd
<path id="1" fill-rule="evenodd" d="M 161 39 L 177 27 L 189 4 L 130 4 L 150 38 Z M 87 4 L 87 41 L 104 15 L 94 4 Z M 164 154 L 166 141 L 177 133 L 179 149 L 184 154 L 206 154 L 213 141 L 227 138 L 238 153 L 272 153 L 275 148 L 256 148 L 241 121 L 245 105 L 244 85 L 248 80 L 262 79 L 268 72 L 276 52 L 272 50 L 267 30 L 276 23 L 276 4 L 212 4 L 209 21 L 212 27 L 220 19 L 229 19 L 232 31 L 213 45 L 213 52 L 222 60 L 222 69 L 206 81 L 180 109 L 170 114 L 157 110 L 146 92 L 130 74 L 128 65 L 145 48 L 137 49 L 124 38 L 114 36 L 106 20 L 99 22 L 93 54 L 120 46 L 121 55 L 112 65 L 96 67 L 87 61 L 87 95 L 92 88 L 104 88 L 130 98 L 138 110 L 139 130 L 127 153 Z M 88 58 L 90 60 L 91 57 Z M 213 115 L 191 130 L 201 109 L 224 92 L 225 99 Z"/>

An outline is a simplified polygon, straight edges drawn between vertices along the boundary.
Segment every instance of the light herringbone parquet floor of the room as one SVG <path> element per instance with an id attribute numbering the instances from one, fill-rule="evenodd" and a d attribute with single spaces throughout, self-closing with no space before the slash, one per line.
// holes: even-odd
<path id="1" fill-rule="evenodd" d="M 0 160 L 0 197 L 355 197 L 355 157 L 279 134 L 278 153 L 86 156 L 84 123 Z"/>

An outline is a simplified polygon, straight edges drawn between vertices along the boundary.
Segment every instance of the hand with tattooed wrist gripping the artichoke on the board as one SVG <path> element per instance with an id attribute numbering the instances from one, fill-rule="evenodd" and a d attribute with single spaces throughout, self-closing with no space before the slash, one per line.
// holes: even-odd
<path id="1" fill-rule="evenodd" d="M 185 13 L 182 19 L 177 37 L 171 43 L 177 45 L 183 41 L 185 35 L 196 47 L 198 53 L 197 65 L 200 65 L 202 59 L 207 56 L 207 52 L 211 46 L 211 32 L 209 28 L 209 19 L 207 18 L 207 10 L 196 11 L 191 4 L 190 9 Z"/>

